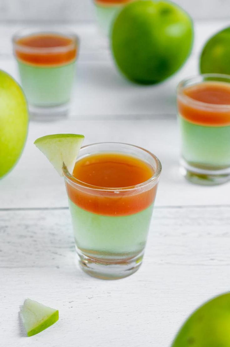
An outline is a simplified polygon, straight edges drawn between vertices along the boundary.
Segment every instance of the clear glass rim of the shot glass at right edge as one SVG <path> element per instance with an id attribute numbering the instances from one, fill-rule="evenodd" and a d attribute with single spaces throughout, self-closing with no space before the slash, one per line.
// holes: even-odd
<path id="1" fill-rule="evenodd" d="M 204 78 L 213 78 L 213 81 L 212 80 L 205 81 Z M 194 82 L 191 85 L 188 85 L 188 87 L 193 86 L 195 84 L 203 83 L 203 82 L 223 82 L 224 83 L 224 81 L 215 81 L 215 78 L 229 80 L 229 83 L 230 83 L 230 75 L 227 75 L 227 74 L 214 74 L 214 73 L 212 73 L 212 74 L 194 75 L 194 76 L 191 76 L 188 78 L 184 78 L 184 79 L 182 79 L 182 81 L 180 81 L 180 83 L 177 86 L 177 97 L 181 98 L 181 99 L 183 99 L 189 103 L 192 103 L 192 104 L 198 106 L 199 108 L 212 109 L 212 110 L 217 109 L 217 110 L 223 110 L 223 111 L 227 110 L 228 111 L 228 110 L 230 110 L 230 104 L 211 104 L 208 102 L 198 101 L 198 100 L 190 98 L 190 96 L 185 95 L 183 93 L 183 89 L 186 87 L 186 84 L 188 82 L 192 82 L 192 81 L 197 81 L 197 82 Z"/>

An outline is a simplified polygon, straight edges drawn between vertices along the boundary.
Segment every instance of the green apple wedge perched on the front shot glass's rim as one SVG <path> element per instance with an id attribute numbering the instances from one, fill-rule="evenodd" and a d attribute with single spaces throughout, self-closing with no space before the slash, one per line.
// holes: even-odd
<path id="1" fill-rule="evenodd" d="M 46 155 L 59 175 L 63 176 L 63 164 L 72 174 L 83 139 L 83 135 L 54 134 L 39 137 L 34 144 Z"/>

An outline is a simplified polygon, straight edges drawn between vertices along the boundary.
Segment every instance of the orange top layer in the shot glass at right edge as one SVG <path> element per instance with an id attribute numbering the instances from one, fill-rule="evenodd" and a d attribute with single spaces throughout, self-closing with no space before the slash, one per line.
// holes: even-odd
<path id="1" fill-rule="evenodd" d="M 203 82 L 184 88 L 178 97 L 178 111 L 194 124 L 230 125 L 230 83 Z"/>

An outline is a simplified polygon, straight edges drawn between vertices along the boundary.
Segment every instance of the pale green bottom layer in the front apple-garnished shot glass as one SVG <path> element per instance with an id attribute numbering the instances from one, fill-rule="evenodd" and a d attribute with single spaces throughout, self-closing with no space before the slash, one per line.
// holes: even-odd
<path id="1" fill-rule="evenodd" d="M 145 248 L 153 204 L 128 216 L 108 217 L 79 208 L 69 200 L 77 248 L 101 260 L 122 260 Z"/>

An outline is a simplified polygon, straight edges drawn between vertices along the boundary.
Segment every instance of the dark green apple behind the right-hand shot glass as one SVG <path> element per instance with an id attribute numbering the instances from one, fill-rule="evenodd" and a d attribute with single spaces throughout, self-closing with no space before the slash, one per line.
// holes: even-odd
<path id="1" fill-rule="evenodd" d="M 230 75 L 230 27 L 206 42 L 200 56 L 200 72 Z"/>

